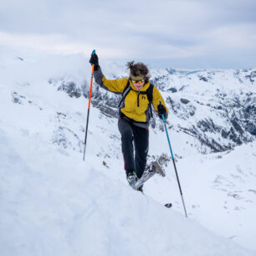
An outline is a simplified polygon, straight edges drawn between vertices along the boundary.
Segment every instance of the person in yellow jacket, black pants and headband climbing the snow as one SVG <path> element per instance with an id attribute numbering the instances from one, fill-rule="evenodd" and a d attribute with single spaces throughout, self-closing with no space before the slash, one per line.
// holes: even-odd
<path id="1" fill-rule="evenodd" d="M 90 64 L 95 65 L 95 82 L 100 87 L 122 95 L 118 128 L 121 135 L 126 179 L 133 187 L 146 168 L 151 104 L 160 118 L 164 115 L 166 119 L 168 110 L 159 90 L 150 84 L 149 69 L 145 64 L 128 62 L 127 67 L 130 69 L 128 79 L 106 79 L 100 69 L 98 56 L 94 52 L 91 54 Z M 141 192 L 142 186 L 138 189 Z"/>

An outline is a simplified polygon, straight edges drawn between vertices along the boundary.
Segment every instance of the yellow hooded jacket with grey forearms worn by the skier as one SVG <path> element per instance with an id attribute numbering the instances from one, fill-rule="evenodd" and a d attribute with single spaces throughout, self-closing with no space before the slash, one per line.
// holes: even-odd
<path id="1" fill-rule="evenodd" d="M 98 84 L 100 84 L 101 87 L 105 88 L 106 90 L 110 90 L 114 93 L 122 94 L 124 92 L 125 87 L 128 83 L 128 79 L 125 79 L 125 78 L 106 79 L 105 76 L 103 76 L 103 74 L 101 73 L 100 69 L 97 70 L 95 73 L 96 73 L 95 81 Z M 150 82 L 144 84 L 144 86 L 141 88 L 140 91 L 136 90 L 135 86 L 131 83 L 131 81 L 129 82 L 131 84 L 131 90 L 125 96 L 125 100 L 120 106 L 120 112 L 125 116 L 127 116 L 128 118 L 130 118 L 131 120 L 134 120 L 136 122 L 146 123 L 150 120 L 150 117 L 151 117 L 149 113 L 150 102 L 147 99 L 147 95 L 141 94 L 140 92 L 143 92 L 143 91 L 146 92 L 146 90 L 150 86 Z M 159 105 L 159 100 L 161 101 L 161 104 L 165 106 L 165 108 L 166 108 L 166 104 L 163 98 L 161 97 L 161 94 L 159 90 L 156 88 L 156 86 L 154 86 L 153 88 L 152 96 L 153 96 L 152 105 L 158 114 L 157 105 Z M 138 101 L 139 101 L 139 105 L 138 105 Z M 166 108 L 166 112 L 168 113 L 167 108 Z"/>

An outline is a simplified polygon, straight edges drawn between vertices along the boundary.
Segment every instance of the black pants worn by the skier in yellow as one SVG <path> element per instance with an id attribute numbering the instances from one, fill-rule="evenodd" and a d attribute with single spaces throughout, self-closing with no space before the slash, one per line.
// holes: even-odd
<path id="1" fill-rule="evenodd" d="M 140 178 L 146 167 L 149 131 L 124 118 L 118 121 L 118 128 L 122 141 L 125 172 L 136 172 L 136 176 Z"/>

